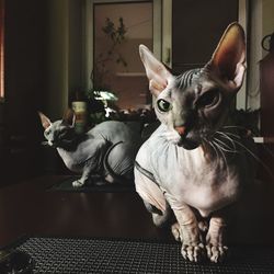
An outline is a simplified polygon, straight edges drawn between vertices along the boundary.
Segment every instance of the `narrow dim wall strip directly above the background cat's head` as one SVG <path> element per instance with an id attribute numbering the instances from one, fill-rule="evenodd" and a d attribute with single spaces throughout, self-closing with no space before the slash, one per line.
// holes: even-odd
<path id="1" fill-rule="evenodd" d="M 47 73 L 45 113 L 56 119 L 67 105 L 68 95 L 68 8 L 69 1 L 48 0 Z"/>

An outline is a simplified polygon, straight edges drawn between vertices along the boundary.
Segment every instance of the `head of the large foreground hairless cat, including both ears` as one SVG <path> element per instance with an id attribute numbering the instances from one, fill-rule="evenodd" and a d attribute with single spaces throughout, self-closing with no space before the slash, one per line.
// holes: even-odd
<path id="1" fill-rule="evenodd" d="M 246 71 L 244 32 L 238 23 L 225 31 L 205 67 L 173 76 L 144 45 L 139 46 L 155 110 L 169 128 L 169 139 L 194 149 L 228 118 L 231 100 Z"/>

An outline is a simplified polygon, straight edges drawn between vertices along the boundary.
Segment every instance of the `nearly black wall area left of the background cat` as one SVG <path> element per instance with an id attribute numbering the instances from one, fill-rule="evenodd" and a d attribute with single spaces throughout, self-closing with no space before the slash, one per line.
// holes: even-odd
<path id="1" fill-rule="evenodd" d="M 33 176 L 41 171 L 37 110 L 45 94 L 46 1 L 5 1 L 4 118 L 5 168 L 1 178 Z M 2 168 L 3 165 L 1 165 Z"/>

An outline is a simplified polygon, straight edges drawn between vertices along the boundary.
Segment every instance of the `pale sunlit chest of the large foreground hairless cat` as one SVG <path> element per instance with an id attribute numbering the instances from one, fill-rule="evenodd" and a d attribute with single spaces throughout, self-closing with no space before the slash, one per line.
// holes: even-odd
<path id="1" fill-rule="evenodd" d="M 186 203 L 206 216 L 239 195 L 235 165 L 226 164 L 221 159 L 205 158 L 201 147 L 184 150 L 167 145 L 162 151 L 167 157 L 158 157 L 153 162 L 153 173 L 173 206 Z"/>

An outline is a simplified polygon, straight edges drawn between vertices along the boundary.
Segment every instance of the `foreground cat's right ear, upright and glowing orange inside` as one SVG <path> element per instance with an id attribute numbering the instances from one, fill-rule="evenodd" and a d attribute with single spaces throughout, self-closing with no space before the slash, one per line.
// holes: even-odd
<path id="1" fill-rule="evenodd" d="M 246 71 L 244 31 L 237 22 L 225 31 L 208 66 L 217 70 L 235 91 L 242 84 Z"/>

